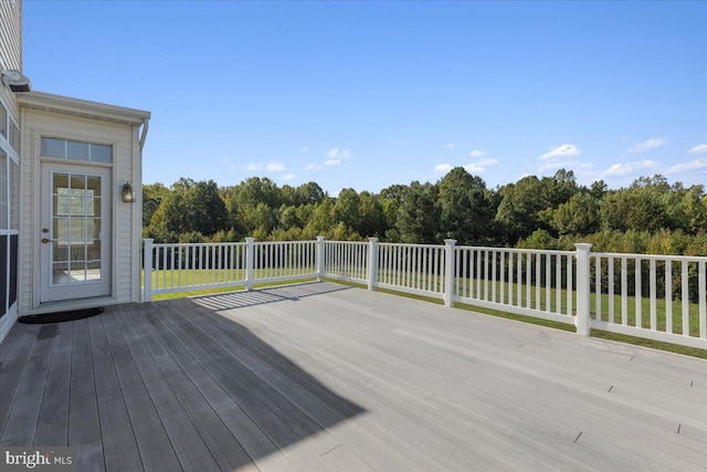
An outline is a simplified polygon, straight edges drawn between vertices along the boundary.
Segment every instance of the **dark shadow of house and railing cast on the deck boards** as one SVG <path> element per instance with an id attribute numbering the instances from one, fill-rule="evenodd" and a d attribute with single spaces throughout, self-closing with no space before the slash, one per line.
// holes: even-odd
<path id="1" fill-rule="evenodd" d="M 86 471 L 318 469 L 313 458 L 339 445 L 326 430 L 363 409 L 214 312 L 336 290 L 312 284 L 17 324 L 2 344 L 0 447 L 76 447 Z M 315 454 L 292 448 L 306 438 Z"/>

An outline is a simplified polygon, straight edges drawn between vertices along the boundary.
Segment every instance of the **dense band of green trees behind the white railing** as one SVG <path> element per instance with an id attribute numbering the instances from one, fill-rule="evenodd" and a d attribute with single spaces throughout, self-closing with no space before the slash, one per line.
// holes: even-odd
<path id="1" fill-rule="evenodd" d="M 393 185 L 379 193 L 316 182 L 278 187 L 251 177 L 236 186 L 181 178 L 143 186 L 144 235 L 156 242 L 331 240 L 573 249 L 707 255 L 707 195 L 701 185 L 641 177 L 609 189 L 577 183 L 573 171 L 528 176 L 487 188 L 464 168 L 439 181 Z"/>

